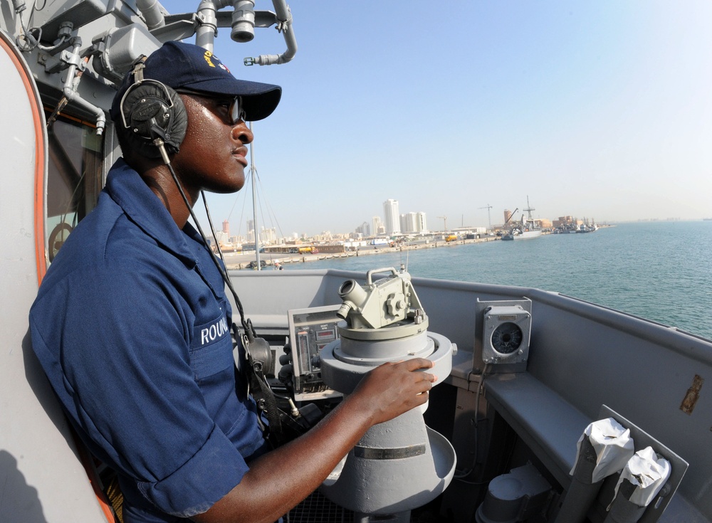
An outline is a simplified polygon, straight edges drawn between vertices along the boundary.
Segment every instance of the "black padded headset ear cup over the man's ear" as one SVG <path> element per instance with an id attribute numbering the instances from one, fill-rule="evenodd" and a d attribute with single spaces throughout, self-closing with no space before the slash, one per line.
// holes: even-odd
<path id="1" fill-rule="evenodd" d="M 153 143 L 162 137 L 168 154 L 176 154 L 188 127 L 183 100 L 172 88 L 156 80 L 132 85 L 122 100 L 122 119 L 132 149 L 147 158 L 161 156 Z"/>

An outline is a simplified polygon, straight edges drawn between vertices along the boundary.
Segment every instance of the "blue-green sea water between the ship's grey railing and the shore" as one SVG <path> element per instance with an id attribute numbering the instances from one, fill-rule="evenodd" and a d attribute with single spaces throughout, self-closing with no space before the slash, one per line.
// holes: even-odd
<path id="1" fill-rule="evenodd" d="M 712 221 L 620 223 L 549 234 L 286 265 L 400 268 L 419 278 L 551 290 L 712 339 Z"/>

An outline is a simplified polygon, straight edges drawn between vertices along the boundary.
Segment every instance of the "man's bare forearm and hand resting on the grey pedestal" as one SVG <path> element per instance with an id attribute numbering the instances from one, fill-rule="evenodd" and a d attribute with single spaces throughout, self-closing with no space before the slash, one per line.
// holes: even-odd
<path id="1" fill-rule="evenodd" d="M 257 458 L 231 492 L 193 519 L 270 523 L 286 514 L 325 480 L 371 426 L 428 401 L 437 378 L 421 369 L 433 365 L 415 358 L 376 367 L 308 433 Z"/>

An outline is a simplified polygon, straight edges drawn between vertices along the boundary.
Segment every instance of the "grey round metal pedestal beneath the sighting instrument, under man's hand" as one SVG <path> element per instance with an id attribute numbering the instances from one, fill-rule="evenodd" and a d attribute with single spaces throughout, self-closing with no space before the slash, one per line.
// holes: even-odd
<path id="1" fill-rule="evenodd" d="M 392 327 L 396 334 L 399 327 Z M 341 339 L 321 354 L 322 378 L 331 388 L 351 393 L 363 375 L 386 361 L 423 357 L 434 362 L 428 372 L 444 378 L 452 366 L 454 345 L 443 336 L 422 331 L 385 339 L 389 327 L 374 329 L 377 338 Z M 363 329 L 356 334 L 362 337 Z M 437 385 L 436 382 L 434 385 Z M 427 403 L 370 428 L 320 488 L 331 501 L 362 515 L 397 514 L 434 500 L 449 485 L 455 452 L 444 436 L 427 427 Z"/>

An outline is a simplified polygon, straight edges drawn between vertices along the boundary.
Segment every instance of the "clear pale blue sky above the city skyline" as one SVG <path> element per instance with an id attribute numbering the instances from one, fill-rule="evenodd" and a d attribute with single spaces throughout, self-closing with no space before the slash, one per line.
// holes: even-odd
<path id="1" fill-rule="evenodd" d="M 246 44 L 224 28 L 214 47 L 237 78 L 283 88 L 253 123 L 258 223 L 279 236 L 355 231 L 387 199 L 433 231 L 502 223 L 527 199 L 550 220 L 712 217 L 708 0 L 290 8 L 289 63 L 243 65 L 285 51 L 275 28 Z M 208 196 L 216 228 L 246 234 L 251 191 Z"/>

